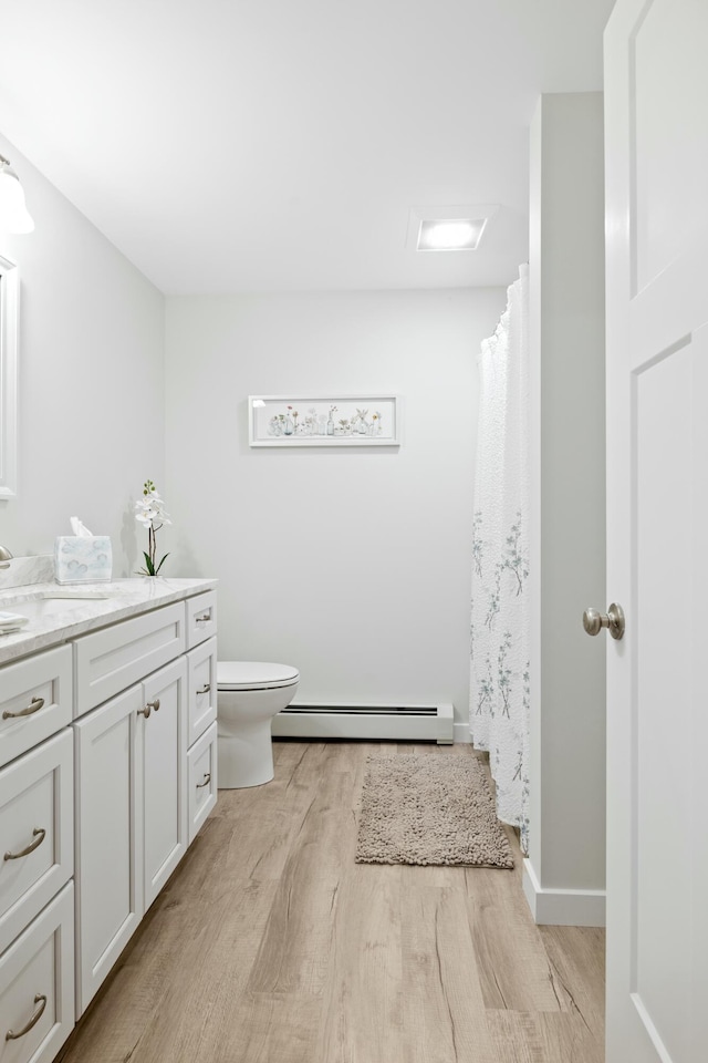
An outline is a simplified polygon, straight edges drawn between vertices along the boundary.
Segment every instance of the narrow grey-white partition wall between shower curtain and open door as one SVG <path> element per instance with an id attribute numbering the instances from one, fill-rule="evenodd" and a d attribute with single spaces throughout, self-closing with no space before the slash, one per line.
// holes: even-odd
<path id="1" fill-rule="evenodd" d="M 563 890 L 577 890 L 601 918 L 602 898 L 592 895 L 605 885 L 605 638 L 584 633 L 582 613 L 607 605 L 602 109 L 602 93 L 541 97 L 530 234 L 538 606 L 530 869 L 549 891 L 546 912 L 554 898 L 559 911 L 568 907 Z M 570 921 L 581 921 L 584 901 L 575 900 Z"/>

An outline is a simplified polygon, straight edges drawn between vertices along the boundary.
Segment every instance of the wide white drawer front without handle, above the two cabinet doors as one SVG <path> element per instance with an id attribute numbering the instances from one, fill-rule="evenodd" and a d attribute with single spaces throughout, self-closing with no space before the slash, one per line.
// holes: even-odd
<path id="1" fill-rule="evenodd" d="M 184 651 L 183 602 L 76 639 L 76 715 L 102 704 Z"/>

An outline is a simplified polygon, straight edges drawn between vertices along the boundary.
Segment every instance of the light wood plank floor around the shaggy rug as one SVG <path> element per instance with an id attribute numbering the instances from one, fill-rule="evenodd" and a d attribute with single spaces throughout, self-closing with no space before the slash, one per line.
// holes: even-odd
<path id="1" fill-rule="evenodd" d="M 379 749 L 277 742 L 221 791 L 64 1063 L 602 1063 L 603 932 L 533 925 L 512 830 L 514 871 L 354 863 Z"/>

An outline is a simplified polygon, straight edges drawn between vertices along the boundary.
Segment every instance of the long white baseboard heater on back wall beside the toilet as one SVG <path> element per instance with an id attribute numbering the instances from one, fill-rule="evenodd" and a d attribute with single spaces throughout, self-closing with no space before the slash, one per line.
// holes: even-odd
<path id="1" fill-rule="evenodd" d="M 334 705 L 291 702 L 272 724 L 274 739 L 393 739 L 447 745 L 454 742 L 451 704 Z"/>

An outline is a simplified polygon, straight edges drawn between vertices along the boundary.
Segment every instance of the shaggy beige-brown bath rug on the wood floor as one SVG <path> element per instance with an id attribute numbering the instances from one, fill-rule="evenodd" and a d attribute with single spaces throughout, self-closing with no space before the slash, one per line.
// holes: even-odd
<path id="1" fill-rule="evenodd" d="M 479 761 L 445 753 L 371 754 L 356 863 L 513 867 Z"/>

